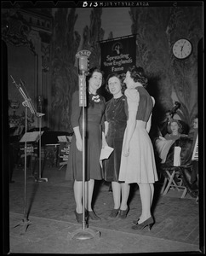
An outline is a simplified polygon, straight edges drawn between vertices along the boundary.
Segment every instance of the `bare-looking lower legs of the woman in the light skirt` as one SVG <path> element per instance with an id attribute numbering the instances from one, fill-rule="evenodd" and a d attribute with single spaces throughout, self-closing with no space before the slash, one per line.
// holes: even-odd
<path id="1" fill-rule="evenodd" d="M 140 221 L 138 221 L 138 223 L 141 224 L 147 218 L 151 217 L 153 189 L 151 184 L 142 184 L 142 183 L 139 183 L 139 188 L 140 188 L 140 199 L 141 199 L 141 216 L 140 216 Z"/>

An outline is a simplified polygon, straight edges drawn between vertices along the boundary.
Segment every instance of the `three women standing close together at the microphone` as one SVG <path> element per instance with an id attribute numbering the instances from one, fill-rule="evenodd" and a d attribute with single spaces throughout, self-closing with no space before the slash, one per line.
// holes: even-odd
<path id="1" fill-rule="evenodd" d="M 87 77 L 88 107 L 86 108 L 86 208 L 89 218 L 100 219 L 92 209 L 94 179 L 105 178 L 112 182 L 114 208 L 110 217 L 119 212 L 120 218 L 126 218 L 129 184 L 138 183 L 142 212 L 134 221 L 134 230 L 140 230 L 154 223 L 151 213 L 154 194 L 153 183 L 157 181 L 157 170 L 151 139 L 148 135 L 151 127 L 154 101 L 146 91 L 147 79 L 141 67 L 131 67 L 126 73 L 124 83 L 127 85 L 123 96 L 121 79 L 111 74 L 107 86 L 113 95 L 110 102 L 105 102 L 97 90 L 102 84 L 100 70 L 92 70 Z M 102 125 L 106 108 L 106 141 L 114 151 L 109 160 L 105 160 L 105 175 L 100 168 L 100 150 L 105 141 Z M 74 179 L 75 215 L 78 222 L 83 218 L 82 191 L 82 111 L 78 102 L 78 91 L 72 96 L 72 137 L 71 153 L 66 169 L 66 178 L 72 172 Z M 125 130 L 126 127 L 126 130 Z M 122 195 L 122 196 L 121 196 Z"/>

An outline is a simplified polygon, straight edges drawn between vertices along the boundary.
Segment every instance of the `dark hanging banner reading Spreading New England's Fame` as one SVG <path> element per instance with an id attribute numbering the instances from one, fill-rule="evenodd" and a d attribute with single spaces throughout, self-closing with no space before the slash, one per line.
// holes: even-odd
<path id="1" fill-rule="evenodd" d="M 100 51 L 100 66 L 105 80 L 110 73 L 125 74 L 129 66 L 136 64 L 136 36 L 102 41 Z M 108 100 L 110 96 L 106 94 L 105 85 L 102 85 L 100 92 Z"/>

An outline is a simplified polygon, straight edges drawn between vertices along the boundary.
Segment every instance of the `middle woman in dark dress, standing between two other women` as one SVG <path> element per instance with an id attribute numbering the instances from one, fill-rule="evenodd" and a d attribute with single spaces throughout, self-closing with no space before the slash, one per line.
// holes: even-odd
<path id="1" fill-rule="evenodd" d="M 123 90 L 125 85 L 120 75 L 112 73 L 108 76 L 106 89 L 112 93 L 112 99 L 106 102 L 105 134 L 106 143 L 114 148 L 108 160 L 104 161 L 105 180 L 112 182 L 114 208 L 110 218 L 126 218 L 127 201 L 129 197 L 129 184 L 118 181 L 120 160 L 123 146 L 123 134 L 127 125 L 127 116 L 124 111 L 125 96 Z"/>

